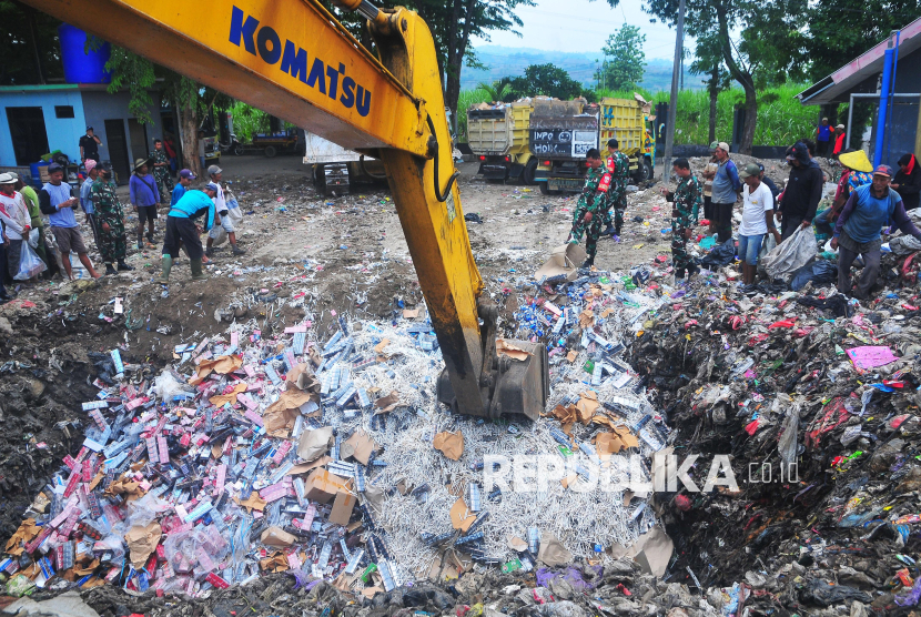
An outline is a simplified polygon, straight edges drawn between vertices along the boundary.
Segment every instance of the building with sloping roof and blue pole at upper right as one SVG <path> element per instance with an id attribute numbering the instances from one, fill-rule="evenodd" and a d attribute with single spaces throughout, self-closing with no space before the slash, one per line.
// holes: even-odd
<path id="1" fill-rule="evenodd" d="M 850 103 L 848 120 L 844 122 L 849 135 L 853 129 L 863 133 L 863 127 L 852 127 L 854 103 L 873 103 L 871 114 L 872 132 L 867 154 L 874 160 L 878 144 L 879 102 L 883 94 L 881 83 L 887 50 L 895 50 L 894 85 L 887 92 L 891 97 L 884 124 L 880 161 L 895 166 L 907 152 L 921 151 L 921 19 L 917 19 L 899 31 L 892 32 L 884 41 L 867 53 L 851 60 L 823 80 L 797 94 L 803 105 L 833 105 Z M 817 113 L 817 118 L 820 114 Z M 854 133 L 856 134 L 856 133 Z M 851 146 L 857 146 L 851 141 Z"/>

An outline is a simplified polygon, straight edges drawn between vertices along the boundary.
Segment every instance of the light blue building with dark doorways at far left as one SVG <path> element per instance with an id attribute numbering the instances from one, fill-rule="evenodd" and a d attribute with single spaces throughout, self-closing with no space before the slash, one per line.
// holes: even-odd
<path id="1" fill-rule="evenodd" d="M 31 173 L 43 154 L 60 150 L 80 160 L 78 142 L 87 127 L 102 141 L 101 161 L 111 161 L 120 182 L 131 175 L 133 161 L 162 139 L 160 94 L 151 91 L 152 123 L 141 124 L 129 111 L 128 92 L 109 94 L 105 84 L 63 83 L 0 87 L 0 168 Z"/>

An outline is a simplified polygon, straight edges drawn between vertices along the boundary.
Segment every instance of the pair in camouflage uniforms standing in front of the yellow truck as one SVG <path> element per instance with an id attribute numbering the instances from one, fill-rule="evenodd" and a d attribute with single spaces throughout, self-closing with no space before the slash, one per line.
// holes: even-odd
<path id="1" fill-rule="evenodd" d="M 608 156 L 601 162 L 601 152 L 593 148 L 586 153 L 588 170 L 585 188 L 579 195 L 569 232 L 570 243 L 581 242 L 586 236 L 587 259 L 583 267 L 595 263 L 598 239 L 603 235 L 617 237 L 624 226 L 627 209 L 627 181 L 630 176 L 630 160 L 620 152 L 616 139 L 608 140 Z"/>

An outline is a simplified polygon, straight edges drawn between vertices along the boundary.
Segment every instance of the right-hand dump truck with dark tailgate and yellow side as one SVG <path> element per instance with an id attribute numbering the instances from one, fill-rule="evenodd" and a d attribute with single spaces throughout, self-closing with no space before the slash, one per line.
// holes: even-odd
<path id="1" fill-rule="evenodd" d="M 597 148 L 607 154 L 607 142 L 616 138 L 630 159 L 635 182 L 652 178 L 655 140 L 649 110 L 641 98 L 603 99 L 600 103 L 538 100 L 530 114 L 529 148 L 537 158 L 535 180 L 545 195 L 579 192 L 585 185 L 585 155 Z"/>

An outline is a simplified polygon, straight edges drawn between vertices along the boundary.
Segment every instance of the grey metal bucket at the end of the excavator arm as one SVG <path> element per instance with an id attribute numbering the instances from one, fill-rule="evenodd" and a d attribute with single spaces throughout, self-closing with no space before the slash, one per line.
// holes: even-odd
<path id="1" fill-rule="evenodd" d="M 547 350 L 542 343 L 505 341 L 513 355 L 499 353 L 495 368 L 480 377 L 480 391 L 486 404 L 482 417 L 522 414 L 536 421 L 550 395 Z M 447 370 L 438 378 L 438 402 L 458 413 L 457 399 Z"/>

